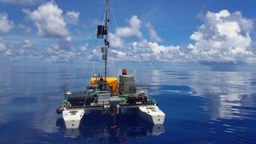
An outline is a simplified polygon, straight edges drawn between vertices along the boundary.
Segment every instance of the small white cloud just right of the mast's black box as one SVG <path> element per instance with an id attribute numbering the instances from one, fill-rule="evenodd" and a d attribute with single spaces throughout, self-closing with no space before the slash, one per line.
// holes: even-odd
<path id="1" fill-rule="evenodd" d="M 130 26 L 116 28 L 116 35 L 118 37 L 143 37 L 140 32 L 142 21 L 137 18 L 137 15 L 133 15 L 129 20 Z"/>

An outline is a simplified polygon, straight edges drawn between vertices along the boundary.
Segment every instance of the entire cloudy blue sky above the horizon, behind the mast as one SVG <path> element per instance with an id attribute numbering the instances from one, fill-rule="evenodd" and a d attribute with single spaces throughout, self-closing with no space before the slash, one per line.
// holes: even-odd
<path id="1" fill-rule="evenodd" d="M 111 0 L 109 60 L 255 63 L 253 0 Z M 101 60 L 103 0 L 0 0 L 0 60 Z M 115 20 L 117 22 L 115 22 Z"/>

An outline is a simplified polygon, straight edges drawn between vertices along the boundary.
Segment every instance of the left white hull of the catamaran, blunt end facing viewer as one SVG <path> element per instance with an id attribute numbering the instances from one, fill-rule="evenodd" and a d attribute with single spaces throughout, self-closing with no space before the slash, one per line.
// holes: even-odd
<path id="1" fill-rule="evenodd" d="M 78 129 L 83 116 L 84 108 L 70 108 L 62 112 L 67 129 Z"/>

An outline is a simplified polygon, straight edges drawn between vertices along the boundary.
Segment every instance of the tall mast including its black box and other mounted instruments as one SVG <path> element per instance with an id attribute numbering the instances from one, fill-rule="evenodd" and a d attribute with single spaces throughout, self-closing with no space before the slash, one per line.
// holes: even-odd
<path id="1" fill-rule="evenodd" d="M 97 26 L 97 38 L 104 38 L 104 46 L 102 47 L 102 60 L 105 62 L 105 71 L 104 71 L 104 78 L 105 81 L 107 80 L 107 64 L 108 64 L 108 12 L 109 12 L 109 0 L 106 0 L 106 10 L 105 10 L 105 23 L 104 26 L 99 25 Z M 104 83 L 104 87 L 106 84 Z"/>

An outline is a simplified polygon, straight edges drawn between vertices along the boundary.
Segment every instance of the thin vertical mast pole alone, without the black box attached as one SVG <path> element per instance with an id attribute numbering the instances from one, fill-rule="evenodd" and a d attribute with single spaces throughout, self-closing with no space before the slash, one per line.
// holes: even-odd
<path id="1" fill-rule="evenodd" d="M 108 11 L 109 11 L 109 0 L 106 0 L 106 14 L 105 14 L 105 30 L 106 30 L 106 36 L 104 39 L 104 43 L 105 43 L 105 72 L 104 72 L 104 78 L 105 81 L 107 81 L 107 61 L 108 61 L 108 48 L 109 48 L 109 43 L 108 43 Z M 105 83 L 104 83 L 105 84 Z M 105 85 L 106 87 L 107 85 Z"/>

